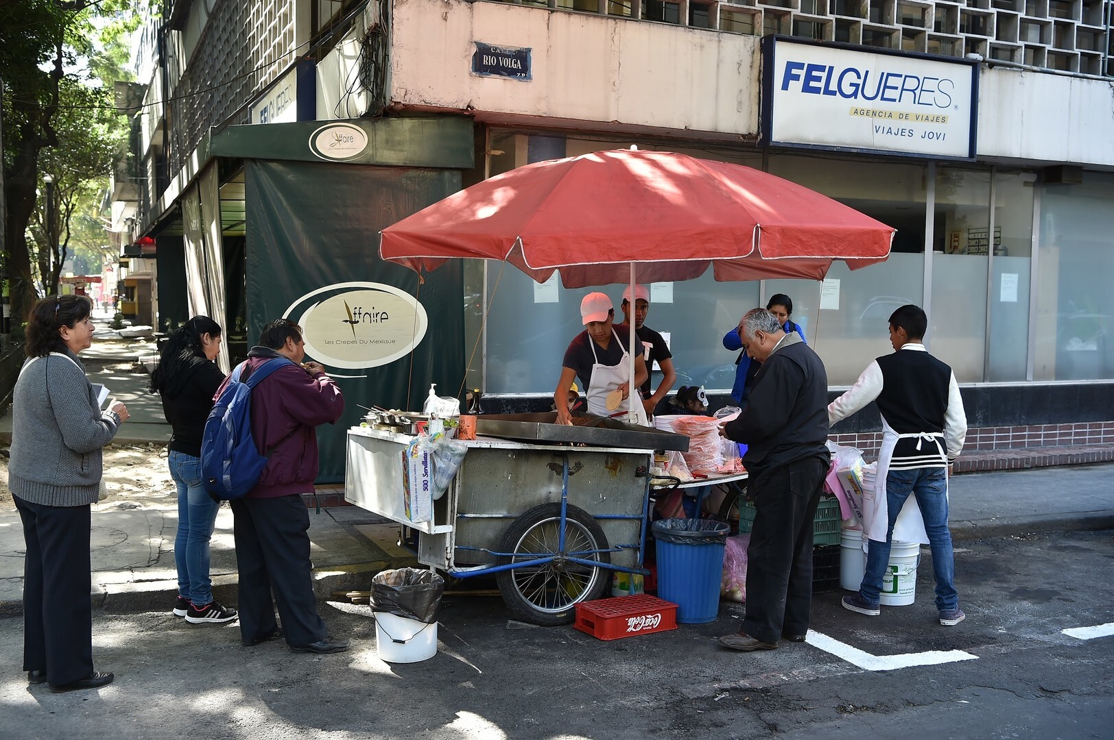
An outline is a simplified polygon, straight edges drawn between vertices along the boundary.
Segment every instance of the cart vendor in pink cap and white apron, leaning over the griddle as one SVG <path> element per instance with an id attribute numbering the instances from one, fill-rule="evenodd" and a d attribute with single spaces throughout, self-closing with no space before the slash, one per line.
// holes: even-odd
<path id="1" fill-rule="evenodd" d="M 557 423 L 571 424 L 568 410 L 568 388 L 574 378 L 580 378 L 585 388 L 588 413 L 597 416 L 625 416 L 631 410 L 631 362 L 634 361 L 634 383 L 645 383 L 649 377 L 646 363 L 642 358 L 642 343 L 635 339 L 634 353 L 628 351 L 631 328 L 613 326 L 615 307 L 603 293 L 589 293 L 580 302 L 580 319 L 585 330 L 580 332 L 565 351 L 561 362 L 560 381 L 554 392 Z M 641 403 L 633 411 L 641 424 L 646 424 L 646 413 Z"/>

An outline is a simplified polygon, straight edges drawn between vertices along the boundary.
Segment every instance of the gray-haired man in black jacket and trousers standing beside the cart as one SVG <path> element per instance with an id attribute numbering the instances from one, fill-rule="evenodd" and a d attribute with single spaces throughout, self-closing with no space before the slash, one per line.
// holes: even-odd
<path id="1" fill-rule="evenodd" d="M 746 618 L 733 650 L 773 650 L 804 640 L 812 605 L 812 519 L 831 462 L 828 374 L 801 337 L 785 334 L 764 308 L 739 324 L 743 349 L 762 363 L 750 405 L 723 435 L 747 445 L 743 464 L 754 493 L 746 549 Z"/>

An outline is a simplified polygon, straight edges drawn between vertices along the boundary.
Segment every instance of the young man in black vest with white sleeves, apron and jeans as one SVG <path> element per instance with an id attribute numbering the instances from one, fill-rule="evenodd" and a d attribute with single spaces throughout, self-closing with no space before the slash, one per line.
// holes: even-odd
<path id="1" fill-rule="evenodd" d="M 870 540 L 867 572 L 859 592 L 843 598 L 843 608 L 868 616 L 881 613 L 882 576 L 893 527 L 912 494 L 932 551 L 940 624 L 951 626 L 964 621 L 965 614 L 956 593 L 948 530 L 948 470 L 964 447 L 967 417 L 955 373 L 925 348 L 927 328 L 928 317 L 919 306 L 893 312 L 893 354 L 872 362 L 847 393 L 829 404 L 828 418 L 834 424 L 874 399 L 882 416 L 874 509 L 863 523 Z"/>

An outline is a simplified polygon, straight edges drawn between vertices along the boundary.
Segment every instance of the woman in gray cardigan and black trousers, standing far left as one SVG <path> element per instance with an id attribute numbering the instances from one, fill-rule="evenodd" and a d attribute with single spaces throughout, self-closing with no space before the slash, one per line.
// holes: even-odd
<path id="1" fill-rule="evenodd" d="M 28 359 L 12 398 L 8 487 L 23 521 L 23 670 L 51 691 L 96 689 L 113 674 L 92 668 L 89 505 L 100 490 L 101 447 L 127 421 L 114 401 L 100 411 L 77 354 L 92 344 L 85 296 L 51 296 L 27 323 Z"/>

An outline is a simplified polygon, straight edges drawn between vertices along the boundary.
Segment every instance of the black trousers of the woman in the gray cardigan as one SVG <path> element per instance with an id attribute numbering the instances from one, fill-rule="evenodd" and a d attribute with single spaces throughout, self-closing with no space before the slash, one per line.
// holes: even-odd
<path id="1" fill-rule="evenodd" d="M 51 685 L 92 673 L 89 505 L 45 506 L 19 496 L 23 520 L 23 670 Z"/>

